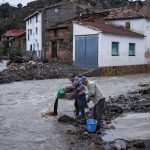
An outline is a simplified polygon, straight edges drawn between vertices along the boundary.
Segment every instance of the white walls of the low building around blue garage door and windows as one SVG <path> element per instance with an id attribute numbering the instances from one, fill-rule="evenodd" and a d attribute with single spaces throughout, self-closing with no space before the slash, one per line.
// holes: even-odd
<path id="1" fill-rule="evenodd" d="M 145 64 L 145 43 L 144 38 L 121 36 L 102 33 L 85 27 L 73 25 L 73 60 L 75 61 L 75 36 L 76 35 L 99 35 L 98 45 L 98 66 L 122 66 Z M 119 56 L 112 56 L 112 42 L 119 42 Z M 129 56 L 129 43 L 135 43 L 135 56 Z"/>

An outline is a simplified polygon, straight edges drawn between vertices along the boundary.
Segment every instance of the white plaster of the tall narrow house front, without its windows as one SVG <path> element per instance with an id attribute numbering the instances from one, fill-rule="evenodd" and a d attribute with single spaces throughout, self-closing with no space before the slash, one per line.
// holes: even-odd
<path id="1" fill-rule="evenodd" d="M 27 51 L 30 51 L 30 45 L 32 45 L 32 50 L 37 51 L 37 56 L 41 57 L 42 51 L 42 14 L 38 13 L 38 22 L 36 22 L 36 15 L 26 20 L 26 46 Z M 38 33 L 36 34 L 36 28 L 38 28 Z M 32 29 L 32 35 L 28 33 L 28 29 Z M 29 34 L 29 40 L 28 40 Z M 35 47 L 34 47 L 35 45 Z"/>

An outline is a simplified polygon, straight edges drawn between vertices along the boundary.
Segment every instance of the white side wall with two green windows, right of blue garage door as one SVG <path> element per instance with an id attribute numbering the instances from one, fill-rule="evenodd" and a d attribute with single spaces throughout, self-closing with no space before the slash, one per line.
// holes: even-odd
<path id="1" fill-rule="evenodd" d="M 144 38 L 102 33 L 99 43 L 99 67 L 145 64 Z M 119 56 L 112 56 L 112 42 L 119 42 Z M 129 56 L 129 43 L 135 43 L 135 56 Z"/>

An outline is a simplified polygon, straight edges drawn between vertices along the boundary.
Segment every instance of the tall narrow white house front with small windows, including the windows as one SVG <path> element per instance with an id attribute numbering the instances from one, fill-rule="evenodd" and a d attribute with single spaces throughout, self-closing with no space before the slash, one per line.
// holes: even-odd
<path id="1" fill-rule="evenodd" d="M 26 21 L 26 49 L 35 57 L 42 57 L 42 13 L 35 12 L 25 18 Z"/>

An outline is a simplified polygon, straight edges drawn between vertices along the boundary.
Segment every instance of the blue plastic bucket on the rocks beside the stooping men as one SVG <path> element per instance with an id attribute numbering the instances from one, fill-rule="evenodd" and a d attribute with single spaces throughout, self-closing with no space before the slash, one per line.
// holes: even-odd
<path id="1" fill-rule="evenodd" d="M 87 130 L 88 132 L 96 132 L 96 124 L 97 124 L 97 120 L 95 119 L 87 119 L 86 121 L 87 123 Z"/>

